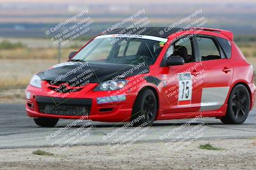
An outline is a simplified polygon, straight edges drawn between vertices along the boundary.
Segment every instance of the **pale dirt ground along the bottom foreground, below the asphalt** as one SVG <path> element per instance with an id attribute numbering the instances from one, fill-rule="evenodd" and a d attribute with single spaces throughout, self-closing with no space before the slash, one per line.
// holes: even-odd
<path id="1" fill-rule="evenodd" d="M 224 150 L 202 150 L 211 143 Z M 33 155 L 38 148 L 0 150 L 0 169 L 255 169 L 256 138 L 199 140 L 180 150 L 164 143 L 138 143 L 122 151 L 104 146 L 73 146 L 65 151 L 40 148 L 53 156 Z"/>

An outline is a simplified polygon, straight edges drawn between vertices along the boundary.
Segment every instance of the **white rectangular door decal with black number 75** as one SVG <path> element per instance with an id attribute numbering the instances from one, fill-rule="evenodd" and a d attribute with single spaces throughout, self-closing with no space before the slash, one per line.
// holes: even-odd
<path id="1" fill-rule="evenodd" d="M 191 104 L 192 76 L 191 73 L 179 73 L 179 100 L 178 105 Z"/>

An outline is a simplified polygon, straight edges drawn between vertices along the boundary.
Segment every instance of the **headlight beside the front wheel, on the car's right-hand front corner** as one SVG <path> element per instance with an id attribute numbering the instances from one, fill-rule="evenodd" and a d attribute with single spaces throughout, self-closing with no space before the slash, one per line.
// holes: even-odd
<path id="1" fill-rule="evenodd" d="M 94 89 L 94 91 L 119 90 L 124 88 L 127 83 L 127 80 L 103 81 Z"/>

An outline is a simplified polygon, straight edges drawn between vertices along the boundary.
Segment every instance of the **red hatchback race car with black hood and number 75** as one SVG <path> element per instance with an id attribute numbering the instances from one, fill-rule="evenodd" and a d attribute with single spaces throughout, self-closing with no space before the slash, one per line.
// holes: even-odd
<path id="1" fill-rule="evenodd" d="M 243 124 L 255 94 L 253 67 L 232 32 L 124 28 L 33 76 L 26 111 L 42 127 L 59 118 L 150 125 L 202 116 Z"/>

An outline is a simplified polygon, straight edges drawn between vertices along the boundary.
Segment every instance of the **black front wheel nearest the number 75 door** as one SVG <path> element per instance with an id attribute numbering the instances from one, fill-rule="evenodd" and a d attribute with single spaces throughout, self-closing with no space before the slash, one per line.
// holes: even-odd
<path id="1" fill-rule="evenodd" d="M 150 89 L 143 89 L 137 96 L 132 108 L 132 126 L 152 125 L 157 113 L 157 99 Z"/>

